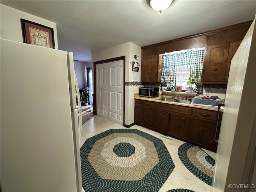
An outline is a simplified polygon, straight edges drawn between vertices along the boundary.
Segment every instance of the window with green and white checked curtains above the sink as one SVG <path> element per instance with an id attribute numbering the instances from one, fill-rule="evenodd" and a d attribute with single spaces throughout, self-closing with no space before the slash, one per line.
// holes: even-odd
<path id="1" fill-rule="evenodd" d="M 204 48 L 175 51 L 163 54 L 161 82 L 172 81 L 170 89 L 176 86 L 188 87 L 188 76 L 198 76 L 201 82 L 202 64 L 204 59 Z M 202 87 L 192 86 L 195 92 L 202 92 Z"/>

